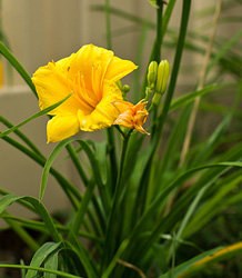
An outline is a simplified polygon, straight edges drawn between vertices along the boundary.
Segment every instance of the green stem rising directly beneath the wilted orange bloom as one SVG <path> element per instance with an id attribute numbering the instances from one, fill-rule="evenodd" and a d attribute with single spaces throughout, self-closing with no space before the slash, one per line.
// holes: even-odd
<path id="1" fill-rule="evenodd" d="M 111 205 L 111 210 L 107 224 L 107 232 L 105 232 L 105 241 L 104 241 L 104 250 L 103 250 L 103 256 L 102 256 L 102 264 L 101 264 L 101 274 L 105 270 L 107 266 L 109 265 L 109 260 L 114 254 L 114 227 L 115 227 L 115 215 L 117 215 L 117 209 L 119 205 L 119 197 L 120 192 L 122 191 L 122 173 L 123 173 L 123 167 L 124 167 L 124 161 L 125 161 L 125 155 L 127 155 L 127 149 L 128 149 L 128 142 L 129 138 L 131 135 L 132 130 L 129 130 L 128 135 L 123 138 L 122 140 L 122 149 L 121 149 L 121 159 L 120 159 L 120 168 L 119 168 L 119 173 L 118 173 L 118 179 L 117 179 L 117 185 L 115 185 L 115 191 L 114 196 L 112 199 L 112 205 Z M 112 238 L 112 240 L 110 240 Z"/>

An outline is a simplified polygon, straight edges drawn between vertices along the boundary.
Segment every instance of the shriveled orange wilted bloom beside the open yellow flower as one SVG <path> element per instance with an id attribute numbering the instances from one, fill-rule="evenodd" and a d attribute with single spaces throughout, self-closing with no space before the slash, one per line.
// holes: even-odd
<path id="1" fill-rule="evenodd" d="M 148 101 L 142 99 L 135 106 L 122 100 L 115 100 L 112 103 L 119 110 L 119 117 L 114 120 L 113 125 L 137 129 L 141 133 L 150 135 L 142 127 L 149 115 L 144 109 Z"/>

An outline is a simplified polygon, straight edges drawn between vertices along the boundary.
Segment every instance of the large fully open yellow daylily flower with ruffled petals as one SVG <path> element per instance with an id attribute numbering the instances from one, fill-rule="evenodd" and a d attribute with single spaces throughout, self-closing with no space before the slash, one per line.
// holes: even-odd
<path id="1" fill-rule="evenodd" d="M 93 44 L 40 67 L 32 81 L 41 110 L 72 92 L 49 112 L 54 117 L 47 126 L 48 142 L 63 140 L 79 130 L 94 131 L 112 126 L 119 112 L 111 102 L 122 100 L 115 82 L 135 68 L 133 62 Z"/>

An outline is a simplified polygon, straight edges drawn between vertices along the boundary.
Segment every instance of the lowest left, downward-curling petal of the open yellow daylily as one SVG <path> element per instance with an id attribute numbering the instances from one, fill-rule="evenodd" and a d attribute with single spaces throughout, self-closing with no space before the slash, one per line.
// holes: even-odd
<path id="1" fill-rule="evenodd" d="M 61 141 L 75 135 L 79 130 L 79 121 L 75 116 L 56 116 L 47 125 L 48 142 Z"/>

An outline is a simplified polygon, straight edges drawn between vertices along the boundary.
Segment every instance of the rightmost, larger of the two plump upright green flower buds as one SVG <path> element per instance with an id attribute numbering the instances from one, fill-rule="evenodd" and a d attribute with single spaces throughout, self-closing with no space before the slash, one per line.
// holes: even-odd
<path id="1" fill-rule="evenodd" d="M 158 80 L 155 87 L 155 91 L 161 95 L 164 93 L 168 85 L 169 73 L 170 73 L 170 64 L 167 60 L 162 60 L 158 67 Z"/>

